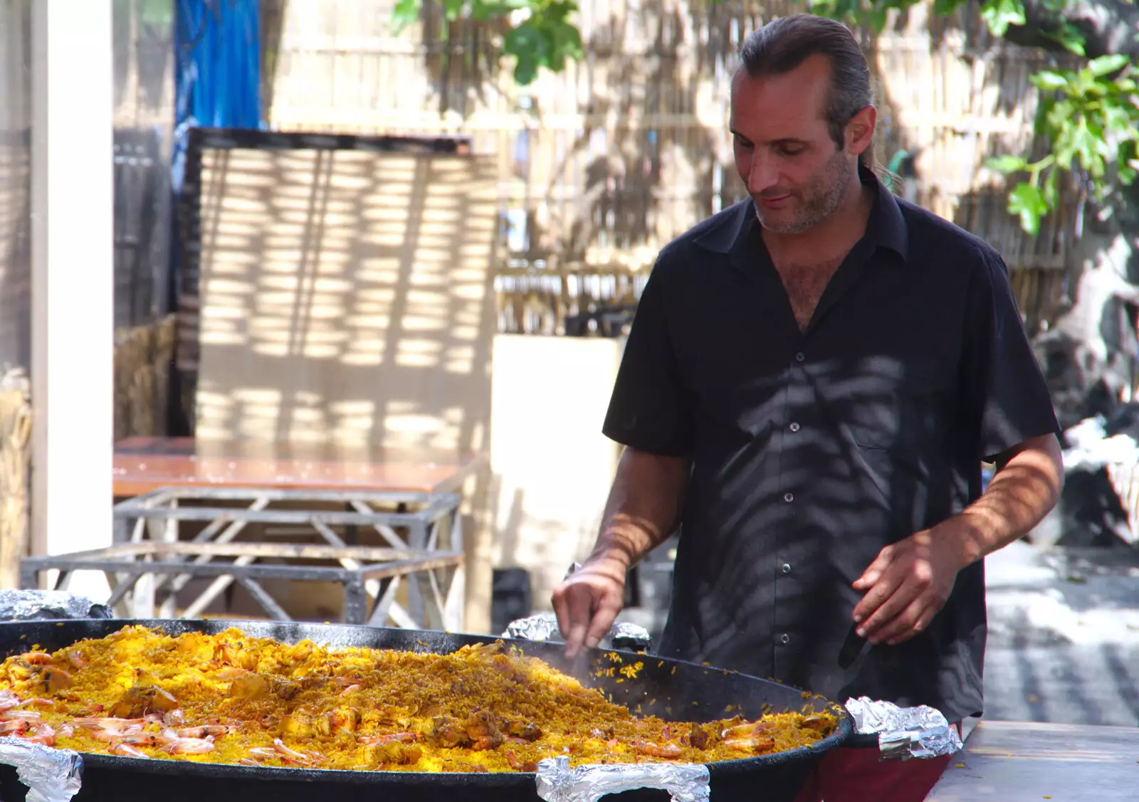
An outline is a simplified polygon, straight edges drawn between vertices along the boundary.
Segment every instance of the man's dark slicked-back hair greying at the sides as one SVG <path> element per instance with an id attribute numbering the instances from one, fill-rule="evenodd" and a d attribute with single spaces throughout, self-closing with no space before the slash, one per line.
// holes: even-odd
<path id="1" fill-rule="evenodd" d="M 811 56 L 826 56 L 830 63 L 826 120 L 830 138 L 842 150 L 846 123 L 874 103 L 870 68 L 849 27 L 813 14 L 779 17 L 747 34 L 739 60 L 751 77 L 759 77 L 789 73 Z M 874 169 L 872 144 L 860 154 L 859 161 Z"/>

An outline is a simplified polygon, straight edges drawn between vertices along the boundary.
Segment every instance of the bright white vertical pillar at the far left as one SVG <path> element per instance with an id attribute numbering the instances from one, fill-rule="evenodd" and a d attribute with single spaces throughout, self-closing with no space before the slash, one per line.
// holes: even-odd
<path id="1" fill-rule="evenodd" d="M 32 543 L 112 542 L 110 0 L 32 7 Z M 71 587 L 97 599 L 103 574 Z"/>

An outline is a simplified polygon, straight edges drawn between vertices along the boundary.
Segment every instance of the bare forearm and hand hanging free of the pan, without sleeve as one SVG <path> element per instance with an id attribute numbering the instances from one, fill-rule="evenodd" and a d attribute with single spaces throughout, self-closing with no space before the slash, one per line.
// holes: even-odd
<path id="1" fill-rule="evenodd" d="M 859 635 L 900 644 L 929 625 L 961 568 L 1019 540 L 1059 499 L 1064 464 L 1055 434 L 1032 437 L 998 459 L 975 502 L 947 521 L 885 547 L 854 582 Z"/>

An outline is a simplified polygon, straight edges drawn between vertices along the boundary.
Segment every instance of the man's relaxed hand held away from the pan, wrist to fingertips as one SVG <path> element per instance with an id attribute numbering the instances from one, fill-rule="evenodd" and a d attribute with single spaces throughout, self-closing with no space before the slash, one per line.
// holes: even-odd
<path id="1" fill-rule="evenodd" d="M 854 580 L 851 587 L 867 591 L 854 607 L 861 637 L 893 646 L 929 625 L 965 567 L 952 529 L 945 522 L 885 547 Z"/>

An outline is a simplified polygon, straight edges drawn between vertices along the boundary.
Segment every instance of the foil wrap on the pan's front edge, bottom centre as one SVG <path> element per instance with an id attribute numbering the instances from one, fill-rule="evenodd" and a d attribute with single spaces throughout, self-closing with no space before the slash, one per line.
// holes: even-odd
<path id="1" fill-rule="evenodd" d="M 538 795 L 546 802 L 597 802 L 607 794 L 663 788 L 672 802 L 707 802 L 708 767 L 699 763 L 592 763 L 570 768 L 570 759 L 538 763 Z"/>

